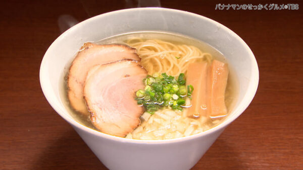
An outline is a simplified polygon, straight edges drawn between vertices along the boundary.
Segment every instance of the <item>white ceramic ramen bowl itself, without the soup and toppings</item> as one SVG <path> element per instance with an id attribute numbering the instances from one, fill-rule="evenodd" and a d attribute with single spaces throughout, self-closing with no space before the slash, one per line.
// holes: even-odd
<path id="1" fill-rule="evenodd" d="M 204 41 L 228 59 L 239 81 L 238 101 L 220 125 L 196 135 L 170 140 L 133 140 L 100 133 L 73 119 L 62 96 L 63 72 L 84 42 L 144 30 L 169 31 Z M 254 98 L 258 65 L 245 42 L 227 27 L 196 14 L 164 9 L 114 11 L 85 20 L 67 30 L 46 51 L 40 67 L 45 98 L 78 132 L 95 155 L 110 169 L 189 169 L 208 150 L 227 125 Z"/>

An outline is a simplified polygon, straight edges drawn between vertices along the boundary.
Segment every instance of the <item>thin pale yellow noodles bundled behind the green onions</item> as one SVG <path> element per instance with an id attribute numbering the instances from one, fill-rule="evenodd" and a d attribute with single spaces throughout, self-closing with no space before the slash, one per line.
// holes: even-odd
<path id="1" fill-rule="evenodd" d="M 181 72 L 186 73 L 189 63 L 212 60 L 211 54 L 185 44 L 173 44 L 159 39 L 144 40 L 137 37 L 127 40 L 126 43 L 137 49 L 141 64 L 148 70 L 148 74 L 166 72 L 178 76 Z"/>

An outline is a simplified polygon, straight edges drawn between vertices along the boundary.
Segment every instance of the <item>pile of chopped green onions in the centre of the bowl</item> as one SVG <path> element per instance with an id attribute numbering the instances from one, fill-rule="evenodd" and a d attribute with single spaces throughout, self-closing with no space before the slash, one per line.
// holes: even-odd
<path id="1" fill-rule="evenodd" d="M 143 79 L 145 88 L 136 92 L 137 104 L 144 107 L 144 110 L 154 114 L 157 110 L 168 107 L 173 110 L 182 110 L 185 98 L 191 99 L 193 87 L 186 86 L 185 74 L 180 73 L 176 79 L 165 72 L 147 75 Z"/>

